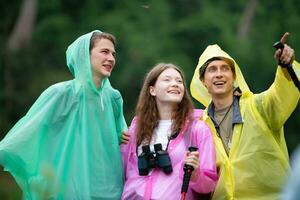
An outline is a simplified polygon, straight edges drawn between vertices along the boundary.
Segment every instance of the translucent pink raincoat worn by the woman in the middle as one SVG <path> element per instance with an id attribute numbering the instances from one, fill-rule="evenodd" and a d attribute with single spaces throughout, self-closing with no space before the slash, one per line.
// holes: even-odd
<path id="1" fill-rule="evenodd" d="M 202 114 L 202 112 L 201 112 Z M 199 111 L 194 113 L 199 116 Z M 192 123 L 186 126 L 179 135 L 170 141 L 168 153 L 171 158 L 173 172 L 166 175 L 161 169 L 155 168 L 147 176 L 140 176 L 136 155 L 136 118 L 129 128 L 131 135 L 127 145 L 121 145 L 122 159 L 125 171 L 125 186 L 122 199 L 180 199 L 183 179 L 183 166 L 188 147 L 198 147 L 200 166 L 195 171 L 197 180 L 190 181 L 186 199 L 198 199 L 197 193 L 209 193 L 217 182 L 215 150 L 211 131 L 208 126 L 195 117 Z M 190 124 L 190 125 L 188 125 Z"/>

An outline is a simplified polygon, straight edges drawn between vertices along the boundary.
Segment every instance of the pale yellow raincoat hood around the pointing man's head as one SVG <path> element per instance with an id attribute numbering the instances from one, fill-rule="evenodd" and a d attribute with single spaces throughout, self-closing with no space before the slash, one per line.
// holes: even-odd
<path id="1" fill-rule="evenodd" d="M 223 51 L 217 44 L 209 45 L 199 58 L 198 65 L 195 69 L 194 76 L 192 78 L 191 85 L 190 85 L 192 96 L 196 100 L 198 100 L 201 104 L 203 104 L 205 107 L 208 107 L 208 105 L 210 104 L 211 95 L 208 93 L 206 87 L 204 86 L 204 84 L 199 78 L 199 69 L 206 61 L 214 57 L 224 57 L 232 60 L 234 63 L 235 74 L 236 74 L 236 80 L 234 86 L 239 87 L 242 93 L 246 93 L 250 91 L 243 77 L 243 74 L 238 64 L 235 62 L 235 60 L 231 56 L 229 56 L 225 51 Z"/>

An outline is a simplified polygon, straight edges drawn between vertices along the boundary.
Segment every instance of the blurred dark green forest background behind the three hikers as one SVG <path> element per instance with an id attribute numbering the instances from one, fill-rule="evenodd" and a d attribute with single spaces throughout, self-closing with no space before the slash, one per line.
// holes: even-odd
<path id="1" fill-rule="evenodd" d="M 288 44 L 300 60 L 299 0 L 10 0 L 0 5 L 0 139 L 43 90 L 73 78 L 65 51 L 95 29 L 118 40 L 110 80 L 123 95 L 128 124 L 144 75 L 157 62 L 179 65 L 189 85 L 199 55 L 217 43 L 259 93 L 274 79 L 272 45 L 284 32 L 290 32 Z M 203 108 L 196 101 L 195 106 Z M 300 142 L 299 132 L 298 105 L 285 126 L 289 153 Z M 20 199 L 14 180 L 0 171 L 0 199 Z"/>

